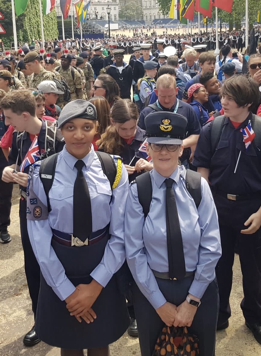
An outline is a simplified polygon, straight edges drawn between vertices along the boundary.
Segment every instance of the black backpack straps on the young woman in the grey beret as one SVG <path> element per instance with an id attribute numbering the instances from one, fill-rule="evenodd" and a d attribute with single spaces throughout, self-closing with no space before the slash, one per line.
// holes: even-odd
<path id="1" fill-rule="evenodd" d="M 96 155 L 98 156 L 101 167 L 103 169 L 103 173 L 108 178 L 110 182 L 111 190 L 113 189 L 113 183 L 115 181 L 117 169 L 113 158 L 105 152 L 98 152 L 95 151 Z M 57 163 L 58 153 L 55 155 L 49 156 L 46 159 L 43 159 L 40 170 L 39 170 L 39 177 L 43 184 L 43 189 L 45 190 L 46 198 L 47 198 L 47 208 L 48 213 L 52 210 L 49 200 L 49 191 L 53 185 L 53 179 L 55 174 L 55 168 Z M 111 195 L 112 198 L 112 195 Z"/>

